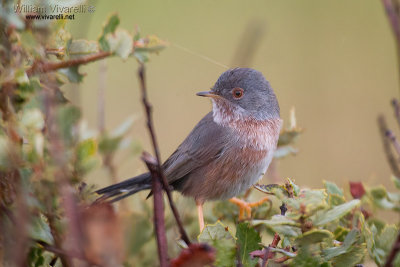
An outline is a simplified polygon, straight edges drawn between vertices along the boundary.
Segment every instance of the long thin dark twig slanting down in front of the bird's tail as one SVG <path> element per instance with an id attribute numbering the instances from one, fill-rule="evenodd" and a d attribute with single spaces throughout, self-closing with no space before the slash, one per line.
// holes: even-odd
<path id="1" fill-rule="evenodd" d="M 164 171 L 162 169 L 161 166 L 161 160 L 160 160 L 160 152 L 158 149 L 158 144 L 157 144 L 157 139 L 155 136 L 155 132 L 154 132 L 154 127 L 153 127 L 153 118 L 151 115 L 151 105 L 147 100 L 147 89 L 146 89 L 146 81 L 145 81 L 145 67 L 143 64 L 140 65 L 139 67 L 139 80 L 140 80 L 140 87 L 141 87 L 141 91 L 142 91 L 142 102 L 143 102 L 143 106 L 145 108 L 145 112 L 146 112 L 146 117 L 147 117 L 147 127 L 149 129 L 149 133 L 151 136 L 151 141 L 153 144 L 153 149 L 154 149 L 154 154 L 156 156 L 156 160 L 157 160 L 157 167 L 158 167 L 158 174 L 159 177 L 161 178 L 162 184 L 164 186 L 164 190 L 167 194 L 168 197 L 168 201 L 169 201 L 169 205 L 171 207 L 172 213 L 174 214 L 176 223 L 178 224 L 178 228 L 179 228 L 179 232 L 181 234 L 182 240 L 185 241 L 185 243 L 187 245 L 189 245 L 191 242 L 189 240 L 188 235 L 186 234 L 185 229 L 183 228 L 183 224 L 182 221 L 180 219 L 178 210 L 175 207 L 174 201 L 172 199 L 172 195 L 171 195 L 171 191 L 167 182 L 167 178 L 165 177 Z"/>

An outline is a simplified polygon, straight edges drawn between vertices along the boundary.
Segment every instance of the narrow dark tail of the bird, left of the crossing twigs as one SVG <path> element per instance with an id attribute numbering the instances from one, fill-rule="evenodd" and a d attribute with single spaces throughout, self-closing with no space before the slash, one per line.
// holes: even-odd
<path id="1" fill-rule="evenodd" d="M 150 173 L 143 173 L 118 184 L 113 184 L 97 190 L 96 193 L 101 196 L 96 202 L 115 202 L 146 189 L 151 189 Z"/>

